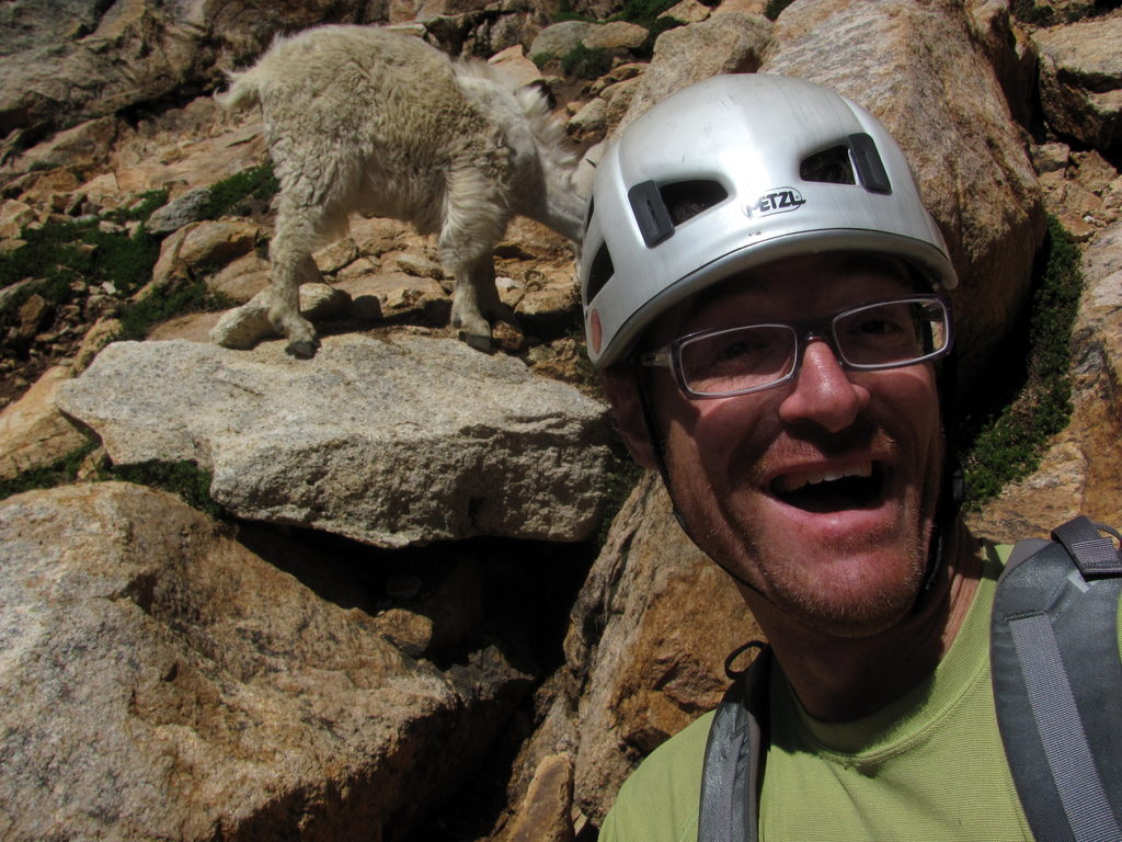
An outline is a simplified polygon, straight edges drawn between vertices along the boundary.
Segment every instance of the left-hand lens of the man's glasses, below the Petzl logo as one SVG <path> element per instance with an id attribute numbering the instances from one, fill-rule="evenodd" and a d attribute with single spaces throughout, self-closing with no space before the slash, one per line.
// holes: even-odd
<path id="1" fill-rule="evenodd" d="M 782 379 L 794 365 L 795 333 L 781 324 L 754 324 L 693 337 L 679 348 L 691 392 L 720 395 Z"/>

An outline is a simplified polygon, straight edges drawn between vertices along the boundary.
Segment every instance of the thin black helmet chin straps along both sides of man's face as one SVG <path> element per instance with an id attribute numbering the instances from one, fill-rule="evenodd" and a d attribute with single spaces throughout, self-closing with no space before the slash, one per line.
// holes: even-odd
<path id="1" fill-rule="evenodd" d="M 940 401 L 939 406 L 945 442 L 942 476 L 939 482 L 939 497 L 936 503 L 935 522 L 932 524 L 931 537 L 928 542 L 927 570 L 923 574 L 922 584 L 916 594 L 916 602 L 912 605 L 913 613 L 918 612 L 922 607 L 928 594 L 931 592 L 936 580 L 938 579 L 940 571 L 947 565 L 947 553 L 949 551 L 951 536 L 954 534 L 955 521 L 958 518 L 958 510 L 962 507 L 963 501 L 966 498 L 966 482 L 963 476 L 963 468 L 958 463 L 957 448 L 955 447 L 954 441 L 955 430 L 957 429 L 955 425 L 957 423 L 955 390 L 958 379 L 958 366 L 954 354 L 941 360 L 941 363 L 942 369 L 940 372 L 938 383 L 939 394 L 944 399 Z M 690 529 L 689 523 L 687 523 L 686 518 L 682 516 L 682 513 L 679 511 L 678 504 L 674 501 L 673 486 L 670 483 L 670 470 L 666 467 L 666 457 L 663 452 L 662 438 L 659 436 L 659 425 L 654 417 L 654 406 L 651 404 L 650 394 L 643 383 L 642 366 L 637 363 L 633 363 L 632 374 L 635 381 L 635 392 L 638 395 L 640 409 L 643 412 L 643 421 L 646 424 L 647 438 L 651 441 L 651 450 L 654 454 L 655 468 L 657 468 L 659 476 L 662 477 L 662 484 L 666 489 L 666 494 L 670 496 L 670 504 L 674 514 L 674 520 L 678 521 L 678 525 L 682 528 L 686 537 L 689 538 L 696 546 L 700 547 L 700 542 L 697 538 L 695 538 L 693 531 Z M 747 582 L 735 570 L 729 569 L 719 561 L 717 561 L 717 564 L 723 570 L 725 570 L 725 573 L 736 579 L 741 585 L 754 591 L 763 598 L 767 598 L 760 591 L 760 588 Z"/>

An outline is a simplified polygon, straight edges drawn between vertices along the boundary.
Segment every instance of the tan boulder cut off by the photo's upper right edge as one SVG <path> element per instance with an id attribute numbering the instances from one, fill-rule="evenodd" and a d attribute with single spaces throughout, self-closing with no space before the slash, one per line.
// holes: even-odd
<path id="1" fill-rule="evenodd" d="M 1103 152 L 1122 149 L 1122 10 L 1041 29 L 1032 39 L 1052 129 Z"/>

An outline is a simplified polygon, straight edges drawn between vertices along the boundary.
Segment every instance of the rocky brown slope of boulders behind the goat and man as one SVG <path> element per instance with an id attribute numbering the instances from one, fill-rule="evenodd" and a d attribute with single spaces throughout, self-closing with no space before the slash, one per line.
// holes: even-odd
<path id="1" fill-rule="evenodd" d="M 388 24 L 488 60 L 550 91 L 586 175 L 698 79 L 833 85 L 947 235 L 967 394 L 1023 377 L 1046 214 L 1080 248 L 1072 420 L 975 528 L 1122 520 L 1122 11 L 1010 6 L 7 3 L 0 482 L 58 487 L 0 502 L 0 835 L 591 839 L 755 633 L 618 460 L 545 229 L 496 256 L 519 324 L 494 356 L 451 338 L 432 241 L 366 219 L 316 255 L 313 360 L 206 342 L 263 287 L 272 222 L 259 117 L 210 93 L 278 31 Z"/>

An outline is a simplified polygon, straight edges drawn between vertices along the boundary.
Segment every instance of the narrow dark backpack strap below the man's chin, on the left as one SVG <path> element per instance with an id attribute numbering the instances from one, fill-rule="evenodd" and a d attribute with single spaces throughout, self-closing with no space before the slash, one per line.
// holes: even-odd
<path id="1" fill-rule="evenodd" d="M 756 842 L 770 674 L 764 648 L 717 707 L 705 747 L 698 840 Z"/>

